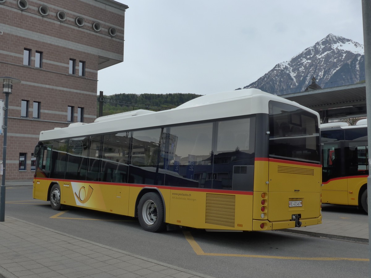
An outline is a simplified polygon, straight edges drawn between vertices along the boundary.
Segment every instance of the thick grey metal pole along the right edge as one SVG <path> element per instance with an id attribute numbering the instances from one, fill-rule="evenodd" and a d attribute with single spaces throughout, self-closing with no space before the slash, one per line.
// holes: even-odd
<path id="1" fill-rule="evenodd" d="M 367 177 L 367 196 L 371 196 L 371 1 L 362 0 L 362 20 L 363 20 L 363 42 L 365 49 L 365 79 L 366 79 L 366 107 L 367 107 L 367 143 L 368 143 L 368 171 Z M 368 238 L 371 238 L 371 205 L 368 202 Z M 371 258 L 371 245 L 369 245 L 369 257 Z M 371 274 L 371 264 L 368 263 L 368 272 Z"/>

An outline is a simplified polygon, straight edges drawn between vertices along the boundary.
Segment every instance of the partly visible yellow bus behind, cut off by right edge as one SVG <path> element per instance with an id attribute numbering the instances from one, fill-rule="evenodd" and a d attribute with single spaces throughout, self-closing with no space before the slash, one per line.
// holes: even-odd
<path id="1" fill-rule="evenodd" d="M 368 212 L 367 124 L 322 124 L 321 141 L 322 203 L 353 205 Z"/>

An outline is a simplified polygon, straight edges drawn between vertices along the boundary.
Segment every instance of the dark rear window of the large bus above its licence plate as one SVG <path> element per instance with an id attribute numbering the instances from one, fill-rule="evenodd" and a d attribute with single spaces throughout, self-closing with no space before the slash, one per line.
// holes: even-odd
<path id="1" fill-rule="evenodd" d="M 299 107 L 269 102 L 269 156 L 320 162 L 318 118 Z"/>

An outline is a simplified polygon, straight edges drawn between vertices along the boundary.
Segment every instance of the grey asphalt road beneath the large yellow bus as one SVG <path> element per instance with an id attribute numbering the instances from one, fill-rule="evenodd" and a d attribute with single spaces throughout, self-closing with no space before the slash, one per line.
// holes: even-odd
<path id="1" fill-rule="evenodd" d="M 322 207 L 323 218 L 368 221 L 354 207 Z M 31 186 L 7 186 L 5 214 L 216 278 L 368 277 L 368 244 L 281 231 L 185 228 L 155 234 L 142 230 L 135 218 L 70 207 L 54 211 L 48 202 L 32 199 Z"/>

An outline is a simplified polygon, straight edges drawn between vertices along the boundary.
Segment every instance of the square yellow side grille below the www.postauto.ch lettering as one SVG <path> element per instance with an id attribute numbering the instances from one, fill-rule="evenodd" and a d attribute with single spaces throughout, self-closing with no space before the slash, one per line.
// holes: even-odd
<path id="1" fill-rule="evenodd" d="M 234 228 L 236 195 L 206 193 L 205 223 Z"/>

